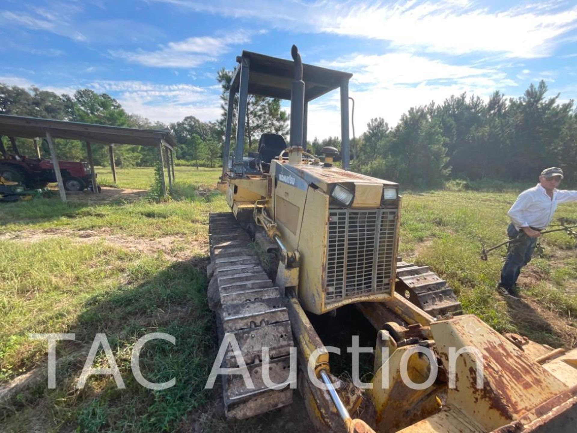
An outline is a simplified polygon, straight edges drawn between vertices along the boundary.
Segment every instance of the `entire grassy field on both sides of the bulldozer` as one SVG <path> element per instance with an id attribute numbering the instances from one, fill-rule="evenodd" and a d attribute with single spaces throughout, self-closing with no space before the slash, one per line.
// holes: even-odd
<path id="1" fill-rule="evenodd" d="M 111 174 L 99 169 L 111 182 Z M 207 221 L 226 210 L 213 191 L 219 169 L 176 167 L 175 200 L 61 204 L 57 197 L 0 208 L 0 386 L 26 387 L 0 402 L 2 431 L 251 431 L 270 430 L 275 415 L 224 423 L 204 390 L 216 352 L 205 300 Z M 148 188 L 152 169 L 118 170 L 121 188 Z M 527 185 L 529 187 L 531 185 Z M 481 242 L 505 237 L 506 211 L 518 191 L 404 193 L 400 253 L 428 264 L 458 292 L 464 310 L 499 331 L 555 347 L 577 345 L 577 256 L 566 234 L 544 237 L 544 254 L 523 271 L 523 302 L 494 292 L 504 250 L 479 260 Z M 577 204 L 557 216 L 577 218 Z M 141 353 L 145 378 L 176 379 L 168 390 L 138 385 L 130 353 L 142 335 L 165 332 Z M 46 348 L 29 333 L 74 333 L 57 345 L 57 388 L 46 387 Z M 96 333 L 113 349 L 126 389 L 111 376 L 75 388 Z M 100 353 L 97 362 L 106 367 Z M 42 368 L 37 368 L 42 367 Z M 0 390 L 1 392 L 1 390 Z"/>

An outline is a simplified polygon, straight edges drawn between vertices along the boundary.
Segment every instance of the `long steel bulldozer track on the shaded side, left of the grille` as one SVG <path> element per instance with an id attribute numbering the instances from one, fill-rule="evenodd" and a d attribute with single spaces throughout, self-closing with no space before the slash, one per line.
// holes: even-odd
<path id="1" fill-rule="evenodd" d="M 293 390 L 288 385 L 271 389 L 263 378 L 263 370 L 273 383 L 289 377 L 294 342 L 284 297 L 231 212 L 209 215 L 209 239 L 209 306 L 216 311 L 219 341 L 233 334 L 240 348 L 240 354 L 234 353 L 229 345 L 221 367 L 238 368 L 242 357 L 254 385 L 248 387 L 239 374 L 222 375 L 226 416 L 245 419 L 291 404 Z M 268 369 L 263 368 L 263 348 L 269 350 Z"/>

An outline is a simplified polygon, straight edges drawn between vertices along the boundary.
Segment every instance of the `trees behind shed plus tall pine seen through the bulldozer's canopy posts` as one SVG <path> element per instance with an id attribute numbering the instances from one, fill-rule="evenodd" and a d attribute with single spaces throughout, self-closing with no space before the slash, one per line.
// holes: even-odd
<path id="1" fill-rule="evenodd" d="M 128 126 L 143 129 L 169 129 L 177 141 L 176 165 L 215 167 L 222 161 L 222 144 L 226 129 L 228 90 L 232 71 L 222 68 L 216 80 L 222 86 L 222 117 L 216 122 L 203 122 L 193 115 L 171 124 L 151 122 L 137 114 L 127 113 L 121 104 L 107 94 L 98 94 L 91 89 L 80 89 L 74 95 L 57 95 L 38 87 L 25 89 L 0 83 L 0 114 L 23 115 L 46 119 L 86 122 L 100 125 Z M 234 100 L 233 113 L 238 111 L 238 95 Z M 234 123 L 234 122 L 233 122 Z M 233 125 L 232 137 L 236 135 Z M 263 132 L 288 135 L 288 114 L 281 109 L 280 99 L 250 95 L 246 113 L 245 148 L 256 151 L 258 138 Z M 3 140 L 7 140 L 3 138 Z M 85 146 L 77 140 L 57 140 L 61 159 L 86 160 Z M 17 139 L 20 152 L 35 155 L 33 141 Z M 8 148 L 9 146 L 7 146 Z M 96 165 L 106 166 L 108 152 L 105 145 L 93 145 Z M 156 148 L 136 145 L 115 147 L 115 163 L 121 167 L 152 166 L 157 160 Z M 49 157 L 48 146 L 41 145 L 41 153 Z"/>

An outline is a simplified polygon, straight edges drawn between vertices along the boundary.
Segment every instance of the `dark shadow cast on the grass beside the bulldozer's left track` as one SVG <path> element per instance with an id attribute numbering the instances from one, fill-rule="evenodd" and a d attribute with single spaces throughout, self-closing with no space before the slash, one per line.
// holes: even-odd
<path id="1" fill-rule="evenodd" d="M 190 410 L 206 404 L 210 391 L 204 385 L 216 350 L 205 298 L 206 264 L 193 259 L 159 270 L 162 263 L 151 261 L 118 289 L 87 300 L 66 330 L 76 340 L 58 343 L 57 388 L 49 390 L 43 381 L 18 394 L 10 407 L 0 408 L 2 431 L 38 430 L 39 420 L 46 423 L 42 431 L 173 431 Z M 157 383 L 175 378 L 167 390 L 141 386 L 130 368 L 134 343 L 152 332 L 176 339 L 174 346 L 162 339 L 149 341 L 140 354 L 144 378 Z M 118 389 L 109 375 L 92 376 L 84 389 L 76 389 L 96 333 L 106 334 L 126 389 Z M 93 367 L 108 367 L 102 350 Z"/>

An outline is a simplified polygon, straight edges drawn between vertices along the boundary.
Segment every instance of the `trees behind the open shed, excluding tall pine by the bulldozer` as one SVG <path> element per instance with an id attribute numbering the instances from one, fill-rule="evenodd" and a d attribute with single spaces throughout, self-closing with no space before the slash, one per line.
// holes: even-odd
<path id="1" fill-rule="evenodd" d="M 194 116 L 169 125 L 151 122 L 140 115 L 127 113 L 117 100 L 91 89 L 80 89 L 71 96 L 57 95 L 37 87 L 28 90 L 0 83 L 0 113 L 129 128 L 169 129 L 177 139 L 177 165 L 214 167 L 221 160 L 220 129 L 216 122 L 201 122 Z M 3 137 L 3 140 L 6 148 L 10 148 L 6 143 L 7 138 Z M 87 160 L 86 148 L 80 141 L 56 141 L 59 158 Z M 17 145 L 21 154 L 36 155 L 32 140 L 17 139 Z M 42 142 L 40 148 L 42 156 L 49 158 L 46 141 Z M 109 165 L 106 145 L 94 143 L 92 152 L 96 165 Z M 154 147 L 117 145 L 114 154 L 115 163 L 120 167 L 153 166 L 158 160 L 158 150 Z"/>

